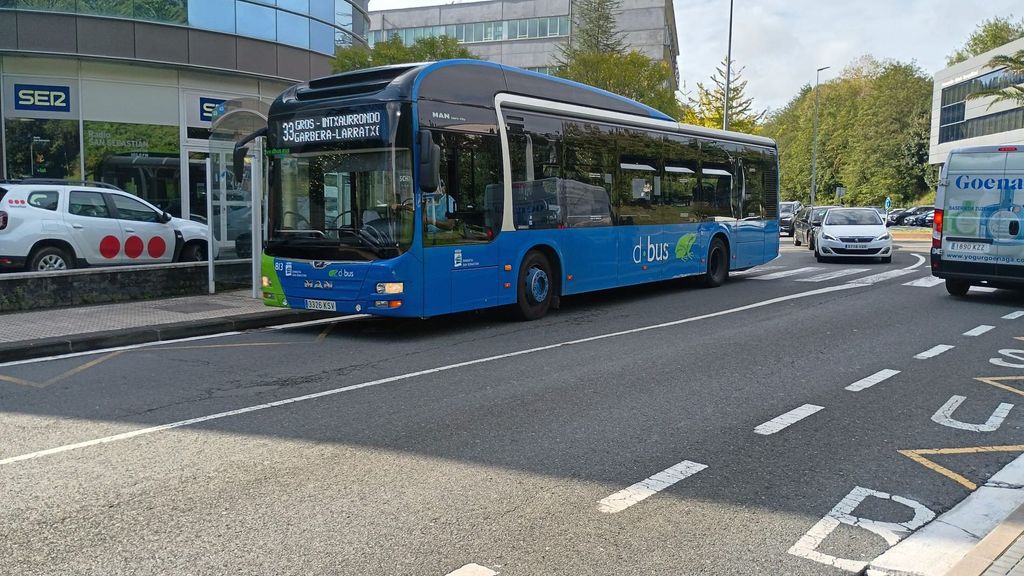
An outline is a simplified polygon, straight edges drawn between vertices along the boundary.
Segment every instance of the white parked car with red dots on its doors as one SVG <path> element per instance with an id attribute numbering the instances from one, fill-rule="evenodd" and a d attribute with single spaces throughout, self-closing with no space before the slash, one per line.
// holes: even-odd
<path id="1" fill-rule="evenodd" d="M 205 260 L 207 227 L 111 184 L 0 183 L 0 270 Z"/>

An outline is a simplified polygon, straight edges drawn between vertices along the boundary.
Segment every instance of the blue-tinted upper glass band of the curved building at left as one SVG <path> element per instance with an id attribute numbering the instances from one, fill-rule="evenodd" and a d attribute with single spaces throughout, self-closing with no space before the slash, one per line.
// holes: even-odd
<path id="1" fill-rule="evenodd" d="M 366 44 L 370 17 L 354 0 L 0 0 L 0 9 L 127 18 L 236 34 L 327 55 Z"/>

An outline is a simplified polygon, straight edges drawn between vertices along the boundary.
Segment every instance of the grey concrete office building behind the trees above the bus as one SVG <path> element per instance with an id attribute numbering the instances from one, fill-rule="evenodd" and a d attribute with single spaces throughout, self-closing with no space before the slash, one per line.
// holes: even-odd
<path id="1" fill-rule="evenodd" d="M 485 0 L 370 12 L 371 45 L 392 36 L 407 44 L 451 36 L 483 59 L 551 72 L 571 39 L 570 0 Z M 672 67 L 679 83 L 679 40 L 671 0 L 624 0 L 617 30 L 631 49 Z"/>

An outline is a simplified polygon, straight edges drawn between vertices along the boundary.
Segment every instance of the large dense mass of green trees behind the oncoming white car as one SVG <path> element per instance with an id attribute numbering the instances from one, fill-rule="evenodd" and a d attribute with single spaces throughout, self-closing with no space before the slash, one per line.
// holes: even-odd
<path id="1" fill-rule="evenodd" d="M 929 190 L 932 80 L 921 69 L 867 56 L 818 90 L 817 203 L 834 202 L 838 186 L 852 205 L 910 203 Z M 813 126 L 810 86 L 765 123 L 786 200 L 810 200 Z"/>

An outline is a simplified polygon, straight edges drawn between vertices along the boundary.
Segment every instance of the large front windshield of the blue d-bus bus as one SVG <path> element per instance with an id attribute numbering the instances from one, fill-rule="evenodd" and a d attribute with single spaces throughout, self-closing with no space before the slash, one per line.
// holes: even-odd
<path id="1" fill-rule="evenodd" d="M 373 260 L 413 243 L 408 149 L 289 154 L 270 173 L 268 255 Z"/>

